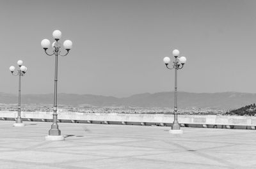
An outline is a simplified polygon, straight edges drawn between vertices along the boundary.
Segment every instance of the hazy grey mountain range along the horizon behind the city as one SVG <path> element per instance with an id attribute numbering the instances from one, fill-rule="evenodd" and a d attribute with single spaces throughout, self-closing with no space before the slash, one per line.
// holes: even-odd
<path id="1" fill-rule="evenodd" d="M 23 94 L 22 103 L 52 104 L 53 94 Z M 0 92 L 0 103 L 17 103 L 15 94 Z M 241 92 L 193 93 L 179 92 L 178 107 L 201 108 L 239 108 L 256 103 L 256 94 Z M 174 92 L 154 94 L 135 94 L 127 98 L 97 96 L 92 94 L 58 94 L 58 103 L 62 105 L 94 106 L 136 106 L 136 107 L 173 107 Z"/>

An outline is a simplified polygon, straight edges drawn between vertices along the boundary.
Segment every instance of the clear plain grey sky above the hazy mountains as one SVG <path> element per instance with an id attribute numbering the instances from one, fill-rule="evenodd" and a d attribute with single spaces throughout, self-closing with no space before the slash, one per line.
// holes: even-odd
<path id="1" fill-rule="evenodd" d="M 163 57 L 173 61 L 176 48 L 187 58 L 179 91 L 256 93 L 255 8 L 254 0 L 1 0 L 0 92 L 18 92 L 9 67 L 19 59 L 28 68 L 22 94 L 54 91 L 54 56 L 40 42 L 58 29 L 61 43 L 73 42 L 59 58 L 59 93 L 173 91 Z"/>

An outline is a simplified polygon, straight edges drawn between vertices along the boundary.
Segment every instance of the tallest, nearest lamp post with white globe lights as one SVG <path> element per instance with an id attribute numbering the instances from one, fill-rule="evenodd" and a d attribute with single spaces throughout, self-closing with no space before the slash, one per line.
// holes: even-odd
<path id="1" fill-rule="evenodd" d="M 44 48 L 45 54 L 55 55 L 55 74 L 54 74 L 54 101 L 53 101 L 53 114 L 52 114 L 52 126 L 49 130 L 49 135 L 45 136 L 46 140 L 64 140 L 64 136 L 61 136 L 61 131 L 58 126 L 58 117 L 57 117 L 57 82 L 58 82 L 58 56 L 65 56 L 68 54 L 69 50 L 72 48 L 72 41 L 65 40 L 63 42 L 63 47 L 65 48 L 65 54 L 61 54 L 61 44 L 59 42 L 61 38 L 61 31 L 53 31 L 52 36 L 54 42 L 52 43 L 52 52 L 47 52 L 47 49 L 51 46 L 51 42 L 47 39 L 41 41 L 41 45 Z"/>

